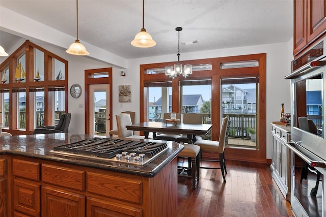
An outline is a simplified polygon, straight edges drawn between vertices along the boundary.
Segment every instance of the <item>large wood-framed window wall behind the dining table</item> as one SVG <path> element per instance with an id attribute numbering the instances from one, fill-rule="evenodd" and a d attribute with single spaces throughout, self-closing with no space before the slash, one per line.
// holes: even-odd
<path id="1" fill-rule="evenodd" d="M 246 112 L 247 116 L 250 116 L 248 125 L 245 126 L 245 130 L 241 133 L 242 129 L 233 129 L 230 130 L 228 134 L 229 145 L 231 144 L 230 137 L 231 135 L 244 136 L 245 139 L 249 140 L 250 135 L 247 130 L 247 126 L 255 126 L 257 129 L 257 142 L 254 143 L 250 148 L 246 147 L 241 149 L 241 145 L 238 145 L 239 148 L 229 148 L 226 147 L 228 156 L 230 158 L 238 159 L 259 159 L 264 161 L 266 159 L 266 138 L 264 136 L 259 136 L 259 132 L 263 135 L 266 132 L 266 119 L 265 119 L 265 101 L 259 101 L 259 98 L 265 97 L 265 87 L 266 87 L 266 54 L 250 54 L 250 55 L 241 55 L 241 56 L 228 56 L 228 57 L 218 57 L 218 58 L 209 58 L 209 59 L 196 59 L 196 60 L 186 60 L 180 61 L 182 65 L 192 64 L 193 66 L 199 65 L 209 65 L 211 69 L 203 69 L 202 71 L 193 71 L 191 77 L 184 79 L 181 77 L 176 77 L 175 79 L 169 79 L 165 76 L 165 67 L 169 64 L 167 63 L 155 63 L 155 64 L 146 64 L 140 66 L 140 121 L 146 121 L 149 117 L 150 109 L 155 109 L 153 105 L 150 105 L 148 102 L 153 100 L 151 96 L 151 90 L 148 88 L 155 83 L 171 83 L 171 106 L 169 104 L 169 109 L 172 108 L 172 112 L 185 112 L 186 103 L 184 103 L 184 98 L 190 90 L 187 90 L 187 86 L 190 88 L 198 88 L 200 86 L 210 85 L 210 122 L 213 125 L 211 139 L 219 140 L 219 130 L 222 123 L 222 117 L 226 114 L 233 116 L 241 116 L 242 113 Z M 230 80 L 230 81 L 229 81 Z M 191 82 L 199 81 L 210 81 L 210 84 L 191 84 Z M 189 85 L 187 85 L 189 82 Z M 228 83 L 229 82 L 229 83 Z M 247 88 L 242 88 L 240 84 L 254 84 L 256 97 L 254 100 L 250 98 L 253 96 L 251 92 L 248 92 Z M 230 85 L 238 85 L 238 88 L 229 88 Z M 191 89 L 192 90 L 192 89 Z M 156 99 L 155 99 L 156 101 Z M 205 101 L 205 100 L 204 100 Z M 239 109 L 240 108 L 240 109 Z M 249 109 L 250 108 L 250 109 Z M 191 106 L 192 112 L 198 110 L 198 107 Z M 188 112 L 190 108 L 188 106 Z M 233 112 L 233 113 L 232 113 Z M 242 112 L 242 113 L 240 113 Z M 256 114 L 260 116 L 259 121 L 257 121 Z M 253 121 L 253 122 L 251 122 Z M 239 121 L 239 123 L 242 122 Z M 237 120 L 233 118 L 234 125 L 237 123 Z M 234 144 L 232 144 L 235 146 Z M 207 156 L 210 157 L 210 156 Z"/>

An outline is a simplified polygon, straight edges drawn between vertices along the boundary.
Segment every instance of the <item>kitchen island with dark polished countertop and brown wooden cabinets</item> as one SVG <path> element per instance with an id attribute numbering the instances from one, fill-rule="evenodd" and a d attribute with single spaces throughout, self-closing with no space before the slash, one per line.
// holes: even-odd
<path id="1" fill-rule="evenodd" d="M 0 137 L 0 216 L 177 216 L 182 145 L 162 141 L 166 151 L 143 166 L 51 152 L 91 138 Z"/>

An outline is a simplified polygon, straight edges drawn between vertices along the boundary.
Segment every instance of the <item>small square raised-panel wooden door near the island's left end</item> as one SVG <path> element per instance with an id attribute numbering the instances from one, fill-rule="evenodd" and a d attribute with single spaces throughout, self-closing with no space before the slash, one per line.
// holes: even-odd
<path id="1" fill-rule="evenodd" d="M 40 184 L 15 180 L 13 189 L 14 209 L 33 216 L 40 215 Z"/>

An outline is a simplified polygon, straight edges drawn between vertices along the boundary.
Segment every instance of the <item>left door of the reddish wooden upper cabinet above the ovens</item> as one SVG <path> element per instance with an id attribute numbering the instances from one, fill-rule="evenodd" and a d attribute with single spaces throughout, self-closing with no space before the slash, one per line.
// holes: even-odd
<path id="1" fill-rule="evenodd" d="M 307 46 L 307 0 L 294 0 L 293 55 Z"/>

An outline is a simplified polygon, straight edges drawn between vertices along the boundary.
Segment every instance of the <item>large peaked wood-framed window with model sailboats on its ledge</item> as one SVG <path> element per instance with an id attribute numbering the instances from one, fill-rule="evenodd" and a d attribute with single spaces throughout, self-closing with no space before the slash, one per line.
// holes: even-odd
<path id="1" fill-rule="evenodd" d="M 14 63 L 13 69 L 10 63 Z M 67 60 L 25 41 L 0 65 L 4 128 L 26 134 L 24 131 L 56 125 L 58 115 L 68 108 L 67 69 Z"/>

